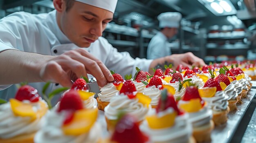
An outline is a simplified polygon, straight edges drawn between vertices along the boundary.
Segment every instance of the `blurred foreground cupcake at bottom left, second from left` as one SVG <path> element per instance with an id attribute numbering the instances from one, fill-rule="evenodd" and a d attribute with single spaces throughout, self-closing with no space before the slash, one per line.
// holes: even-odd
<path id="1" fill-rule="evenodd" d="M 83 95 L 70 90 L 46 115 L 46 123 L 34 138 L 35 143 L 98 143 L 101 134 L 96 123 L 98 109 L 86 109 Z"/>

